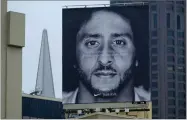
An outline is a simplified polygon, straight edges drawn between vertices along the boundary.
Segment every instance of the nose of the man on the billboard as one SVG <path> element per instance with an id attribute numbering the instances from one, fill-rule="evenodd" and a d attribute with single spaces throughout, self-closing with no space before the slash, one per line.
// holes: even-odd
<path id="1" fill-rule="evenodd" d="M 99 64 L 103 66 L 109 66 L 113 63 L 113 54 L 108 48 L 103 49 L 98 57 Z"/>

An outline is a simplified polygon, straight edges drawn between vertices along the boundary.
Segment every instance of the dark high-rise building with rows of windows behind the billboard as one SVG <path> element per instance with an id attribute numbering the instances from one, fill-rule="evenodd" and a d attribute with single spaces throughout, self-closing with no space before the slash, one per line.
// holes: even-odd
<path id="1" fill-rule="evenodd" d="M 111 6 L 141 0 L 112 0 Z M 142 2 L 145 2 L 145 0 Z M 153 118 L 186 118 L 185 0 L 149 5 Z"/>

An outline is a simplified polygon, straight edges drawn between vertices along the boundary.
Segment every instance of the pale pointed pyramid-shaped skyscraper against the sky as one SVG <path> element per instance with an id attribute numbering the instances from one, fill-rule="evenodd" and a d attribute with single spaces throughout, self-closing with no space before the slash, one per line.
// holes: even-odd
<path id="1" fill-rule="evenodd" d="M 35 94 L 55 98 L 47 30 L 42 33 Z"/>

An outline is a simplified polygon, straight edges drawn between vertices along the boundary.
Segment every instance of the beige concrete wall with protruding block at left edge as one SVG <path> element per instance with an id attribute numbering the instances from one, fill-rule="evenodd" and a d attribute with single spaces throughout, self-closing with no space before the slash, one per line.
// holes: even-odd
<path id="1" fill-rule="evenodd" d="M 1 118 L 22 118 L 22 47 L 25 15 L 7 12 L 1 0 Z"/>

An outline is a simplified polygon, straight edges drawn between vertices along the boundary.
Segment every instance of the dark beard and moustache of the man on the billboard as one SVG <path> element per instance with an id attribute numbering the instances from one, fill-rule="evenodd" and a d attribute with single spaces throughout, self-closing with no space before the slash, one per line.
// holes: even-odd
<path id="1" fill-rule="evenodd" d="M 98 69 L 101 70 L 103 67 L 104 66 L 100 66 Z M 101 91 L 99 89 L 94 88 L 91 84 L 91 77 L 87 77 L 86 74 L 81 69 L 79 69 L 79 75 L 80 75 L 80 78 L 81 78 L 81 82 L 83 83 L 83 85 L 87 88 L 87 90 L 93 96 L 99 97 L 99 98 L 112 98 L 112 97 L 118 96 L 120 91 L 128 85 L 130 80 L 132 80 L 133 68 L 134 68 L 134 66 L 132 64 L 131 67 L 128 70 L 126 70 L 126 72 L 123 74 L 123 78 L 120 79 L 120 82 L 119 82 L 118 86 L 116 88 L 108 90 L 108 91 Z M 95 71 L 97 71 L 98 69 L 96 69 Z M 110 66 L 105 67 L 104 70 L 107 70 L 107 69 L 108 70 L 111 70 L 111 69 L 114 70 Z"/>

